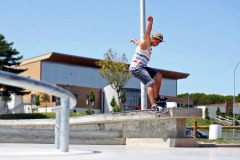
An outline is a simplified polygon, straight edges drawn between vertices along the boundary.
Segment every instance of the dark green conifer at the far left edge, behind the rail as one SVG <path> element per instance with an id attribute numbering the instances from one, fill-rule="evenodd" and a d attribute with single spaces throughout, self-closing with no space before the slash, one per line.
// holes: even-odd
<path id="1" fill-rule="evenodd" d="M 19 52 L 13 48 L 13 44 L 13 42 L 8 43 L 5 37 L 0 34 L 0 70 L 20 74 L 27 69 L 16 68 L 20 65 L 20 60 L 23 56 L 19 56 Z M 23 88 L 0 84 L 0 96 L 3 101 L 10 101 L 12 93 L 22 96 L 30 92 L 26 92 Z"/>

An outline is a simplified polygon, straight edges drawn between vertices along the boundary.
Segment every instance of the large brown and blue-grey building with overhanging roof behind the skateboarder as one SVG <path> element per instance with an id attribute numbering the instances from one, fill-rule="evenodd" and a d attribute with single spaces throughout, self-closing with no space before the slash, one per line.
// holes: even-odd
<path id="1" fill-rule="evenodd" d="M 75 111 L 84 112 L 87 107 L 92 107 L 95 113 L 106 112 L 106 95 L 103 88 L 107 81 L 99 74 L 99 68 L 95 65 L 99 59 L 73 56 L 61 53 L 48 53 L 38 57 L 23 60 L 17 68 L 28 69 L 21 73 L 21 76 L 31 79 L 48 82 L 66 90 L 69 90 L 77 98 Z M 178 106 L 186 103 L 186 99 L 177 98 L 177 81 L 189 76 L 186 73 L 157 69 L 163 74 L 161 95 L 167 96 L 169 101 L 178 103 Z M 140 105 L 140 81 L 132 77 L 124 90 L 127 95 L 127 102 L 124 110 L 136 109 Z M 88 102 L 88 95 L 93 90 L 95 94 L 94 104 Z M 34 106 L 36 96 L 40 93 L 31 91 L 30 95 L 23 97 L 25 105 L 32 105 L 32 108 L 40 112 L 51 111 L 51 107 L 58 104 L 58 97 L 50 95 L 50 101 L 41 103 L 39 107 Z M 190 101 L 192 106 L 193 101 Z M 149 102 L 148 102 L 148 107 Z"/>

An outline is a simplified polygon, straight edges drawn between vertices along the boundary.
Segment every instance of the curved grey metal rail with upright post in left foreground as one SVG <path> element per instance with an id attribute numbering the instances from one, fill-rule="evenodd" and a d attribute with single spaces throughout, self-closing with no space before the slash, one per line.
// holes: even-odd
<path id="1" fill-rule="evenodd" d="M 61 106 L 53 107 L 56 112 L 55 145 L 63 152 L 69 150 L 69 109 L 73 109 L 77 100 L 69 91 L 51 84 L 22 77 L 0 70 L 0 84 L 31 89 L 61 98 Z"/>

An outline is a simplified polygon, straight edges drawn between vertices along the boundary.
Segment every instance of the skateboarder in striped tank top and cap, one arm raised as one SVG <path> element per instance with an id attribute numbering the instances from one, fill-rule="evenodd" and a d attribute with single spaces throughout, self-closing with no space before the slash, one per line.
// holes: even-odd
<path id="1" fill-rule="evenodd" d="M 161 33 L 155 33 L 151 36 L 153 25 L 153 18 L 148 17 L 148 26 L 146 34 L 142 42 L 137 40 L 131 40 L 137 45 L 129 70 L 131 74 L 138 78 L 143 84 L 147 85 L 148 97 L 151 103 L 152 111 L 165 112 L 167 98 L 160 97 L 160 87 L 162 82 L 162 74 L 156 72 L 154 69 L 147 67 L 147 64 L 151 57 L 152 46 L 156 47 L 163 42 L 163 36 Z M 165 104 L 165 105 L 161 105 Z"/>

